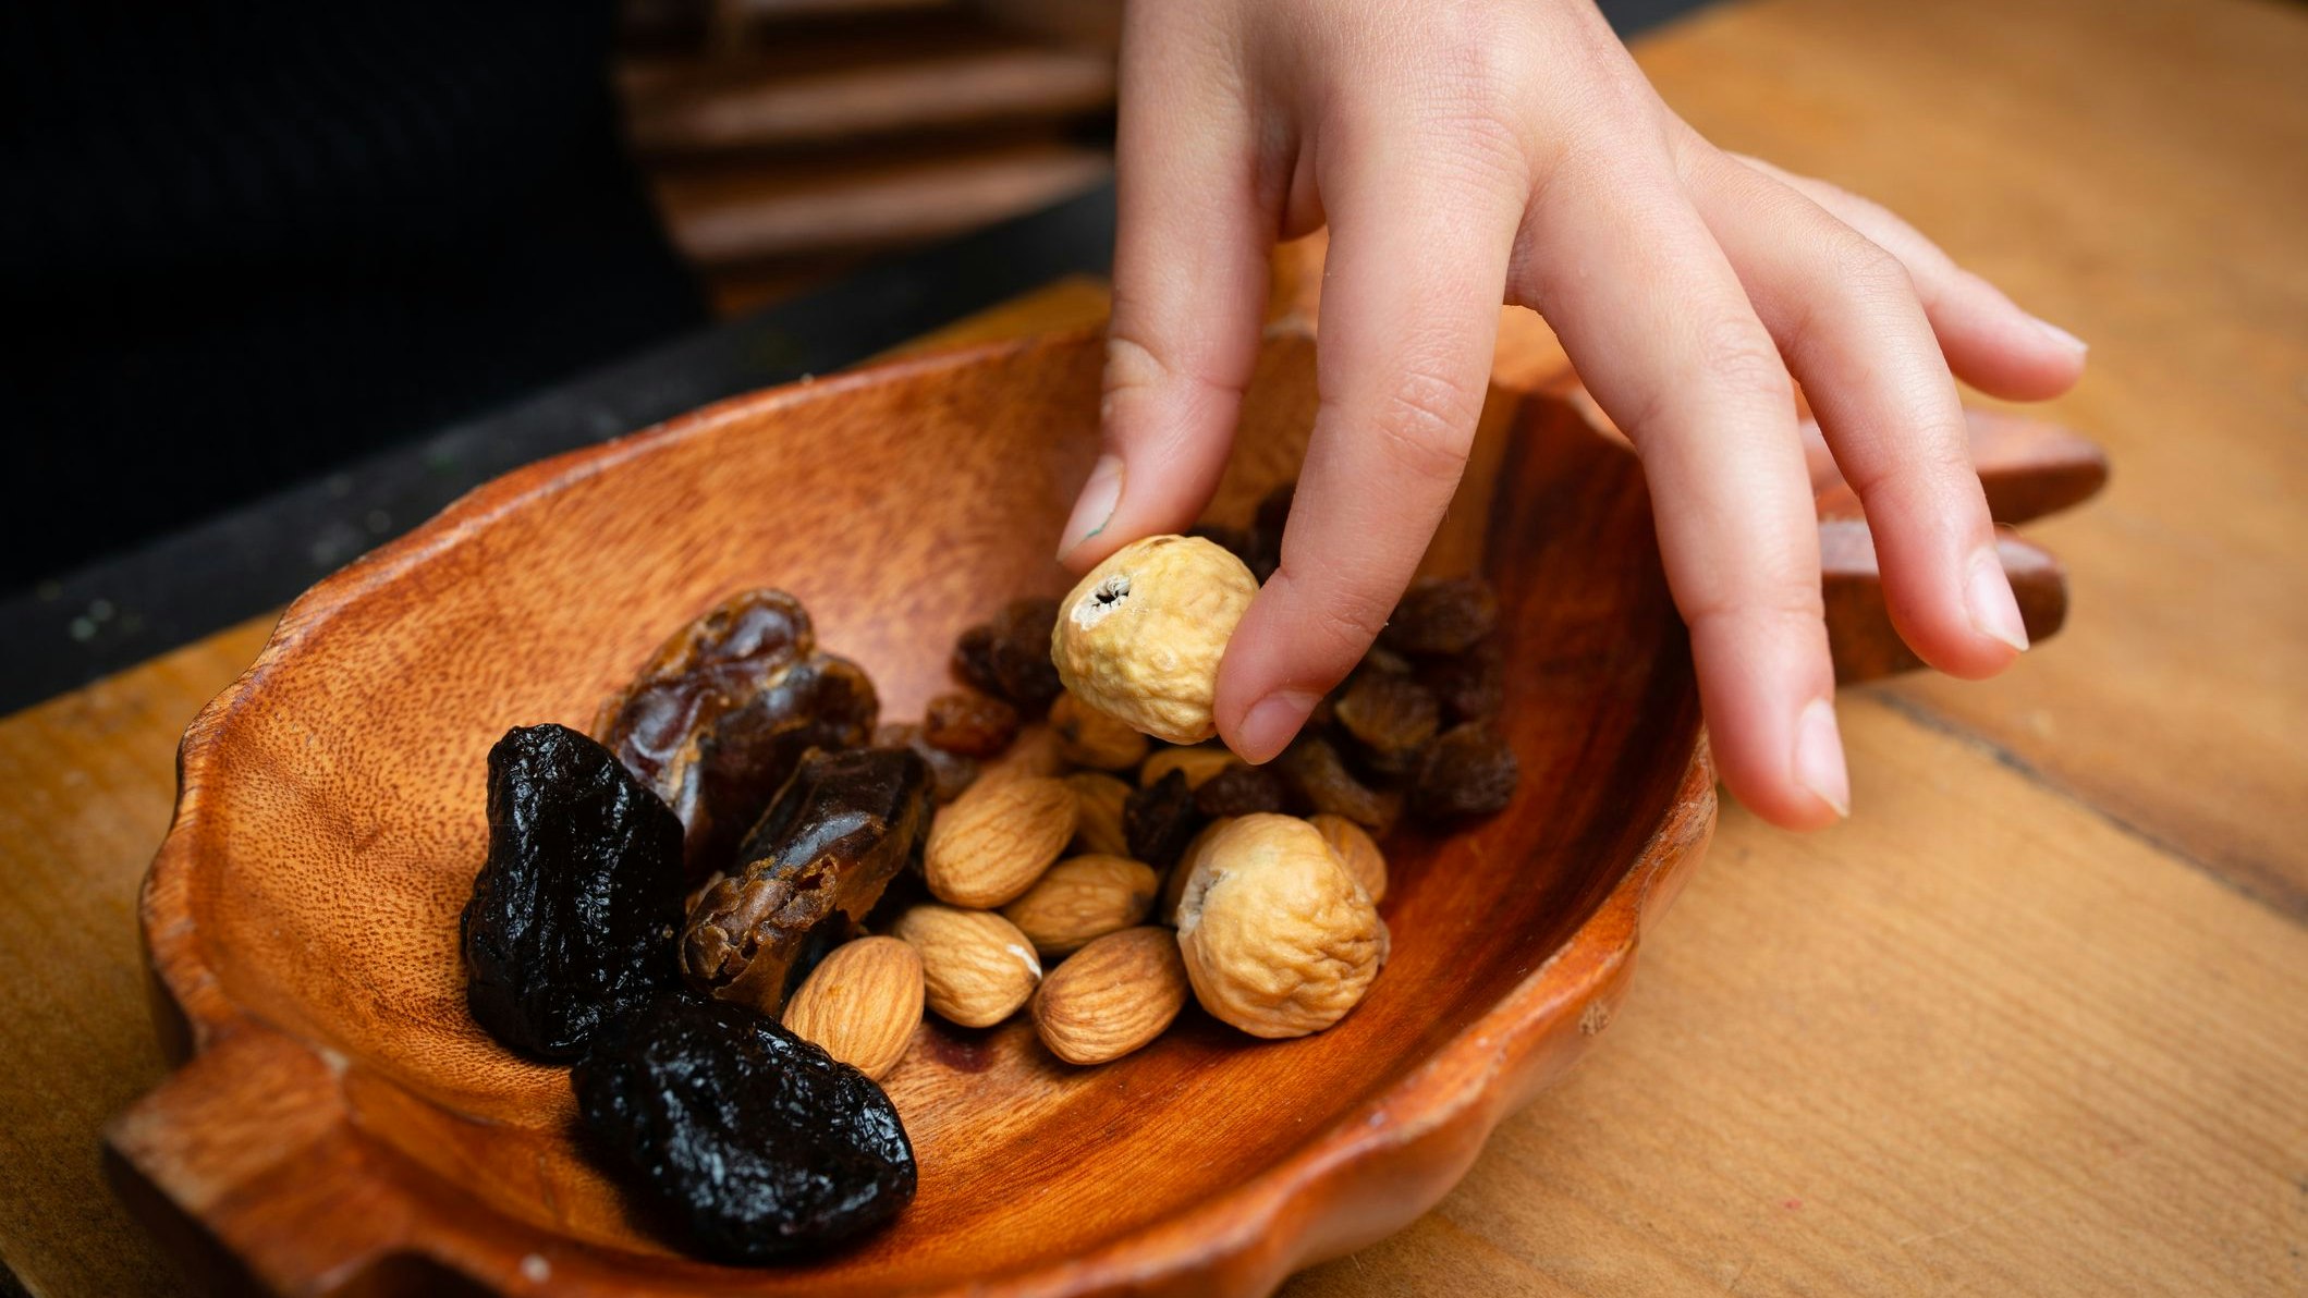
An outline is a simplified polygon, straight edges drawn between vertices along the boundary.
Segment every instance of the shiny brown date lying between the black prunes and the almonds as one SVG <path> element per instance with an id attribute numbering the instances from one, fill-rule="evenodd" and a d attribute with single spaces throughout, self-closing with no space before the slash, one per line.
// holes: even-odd
<path id="1" fill-rule="evenodd" d="M 734 876 L 681 934 L 699 987 L 775 1014 L 882 899 L 930 835 L 930 765 L 912 749 L 812 752 L 745 835 Z"/>

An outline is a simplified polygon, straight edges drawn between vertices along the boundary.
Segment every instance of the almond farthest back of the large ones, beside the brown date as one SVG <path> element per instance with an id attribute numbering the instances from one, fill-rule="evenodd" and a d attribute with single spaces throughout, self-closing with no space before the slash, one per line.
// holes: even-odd
<path id="1" fill-rule="evenodd" d="M 1025 777 L 969 786 L 930 825 L 921 874 L 930 895 L 992 908 L 1041 878 L 1066 851 L 1080 809 L 1062 779 Z"/>

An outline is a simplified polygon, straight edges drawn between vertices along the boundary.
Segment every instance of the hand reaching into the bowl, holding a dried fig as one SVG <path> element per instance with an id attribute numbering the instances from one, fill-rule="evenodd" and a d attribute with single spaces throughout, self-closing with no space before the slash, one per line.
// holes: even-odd
<path id="1" fill-rule="evenodd" d="M 1106 456 L 1069 567 L 1207 505 L 1267 251 L 1322 224 L 1320 413 L 1219 673 L 1244 759 L 1281 752 L 1392 613 L 1466 466 L 1503 300 L 1546 316 L 1643 456 L 1715 759 L 1756 814 L 1849 809 L 1791 371 L 1906 643 L 1966 678 L 2026 648 L 1955 376 L 2043 399 L 2084 344 L 1881 207 L 1710 145 L 1588 0 L 1129 5 Z"/>

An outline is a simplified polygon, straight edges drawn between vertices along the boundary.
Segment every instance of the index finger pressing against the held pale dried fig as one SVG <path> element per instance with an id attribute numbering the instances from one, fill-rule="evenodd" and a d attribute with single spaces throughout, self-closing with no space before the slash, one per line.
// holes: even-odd
<path id="1" fill-rule="evenodd" d="M 1219 669 L 1219 733 L 1246 761 L 1362 662 L 1466 468 L 1521 189 L 1436 166 L 1447 152 L 1417 131 L 1346 148 L 1322 184 L 1320 408 L 1281 565 Z"/>

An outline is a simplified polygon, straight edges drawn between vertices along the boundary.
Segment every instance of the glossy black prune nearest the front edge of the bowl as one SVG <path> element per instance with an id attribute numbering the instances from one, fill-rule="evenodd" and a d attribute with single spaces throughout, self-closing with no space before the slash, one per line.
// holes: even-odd
<path id="1" fill-rule="evenodd" d="M 914 1146 L 863 1072 L 743 1005 L 676 991 L 570 1072 L 593 1148 L 697 1252 L 773 1261 L 914 1201 Z"/>

